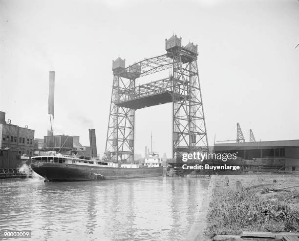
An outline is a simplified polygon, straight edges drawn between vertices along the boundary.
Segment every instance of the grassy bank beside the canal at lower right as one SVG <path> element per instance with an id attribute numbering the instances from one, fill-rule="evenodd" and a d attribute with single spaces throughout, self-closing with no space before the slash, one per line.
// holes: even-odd
<path id="1" fill-rule="evenodd" d="M 235 181 L 243 189 L 235 191 Z M 299 184 L 299 176 L 217 177 L 207 215 L 206 236 L 239 235 L 242 231 L 299 231 L 299 189 L 273 189 Z"/>

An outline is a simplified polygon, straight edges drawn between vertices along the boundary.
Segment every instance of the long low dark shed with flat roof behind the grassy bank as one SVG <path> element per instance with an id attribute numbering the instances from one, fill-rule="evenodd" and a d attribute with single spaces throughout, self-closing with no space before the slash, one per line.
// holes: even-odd
<path id="1" fill-rule="evenodd" d="M 299 171 L 299 140 L 215 144 L 215 153 L 236 153 L 259 164 L 284 164 L 285 171 Z"/>

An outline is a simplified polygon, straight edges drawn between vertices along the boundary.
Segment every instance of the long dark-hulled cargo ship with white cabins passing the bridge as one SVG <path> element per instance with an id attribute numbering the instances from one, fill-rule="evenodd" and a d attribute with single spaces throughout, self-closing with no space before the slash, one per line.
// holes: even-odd
<path id="1" fill-rule="evenodd" d="M 161 161 L 148 161 L 146 165 L 120 164 L 63 154 L 31 157 L 30 167 L 44 181 L 100 181 L 163 176 Z"/>

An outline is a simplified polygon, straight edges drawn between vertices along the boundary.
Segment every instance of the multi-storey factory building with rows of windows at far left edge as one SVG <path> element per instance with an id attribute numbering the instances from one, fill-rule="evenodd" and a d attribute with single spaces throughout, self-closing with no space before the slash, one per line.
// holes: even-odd
<path id="1" fill-rule="evenodd" d="M 34 130 L 5 121 L 5 112 L 0 111 L 0 149 L 13 150 L 18 156 L 34 154 Z"/>

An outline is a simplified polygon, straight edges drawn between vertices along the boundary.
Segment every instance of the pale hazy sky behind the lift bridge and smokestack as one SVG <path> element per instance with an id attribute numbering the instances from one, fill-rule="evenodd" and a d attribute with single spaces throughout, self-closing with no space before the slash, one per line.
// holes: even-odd
<path id="1" fill-rule="evenodd" d="M 172 34 L 198 44 L 209 143 L 299 139 L 298 0 L 0 0 L 0 111 L 36 138 L 49 126 L 49 70 L 55 71 L 54 134 L 96 129 L 105 151 L 112 60 L 165 53 Z M 171 103 L 137 110 L 135 152 L 171 157 Z"/>

